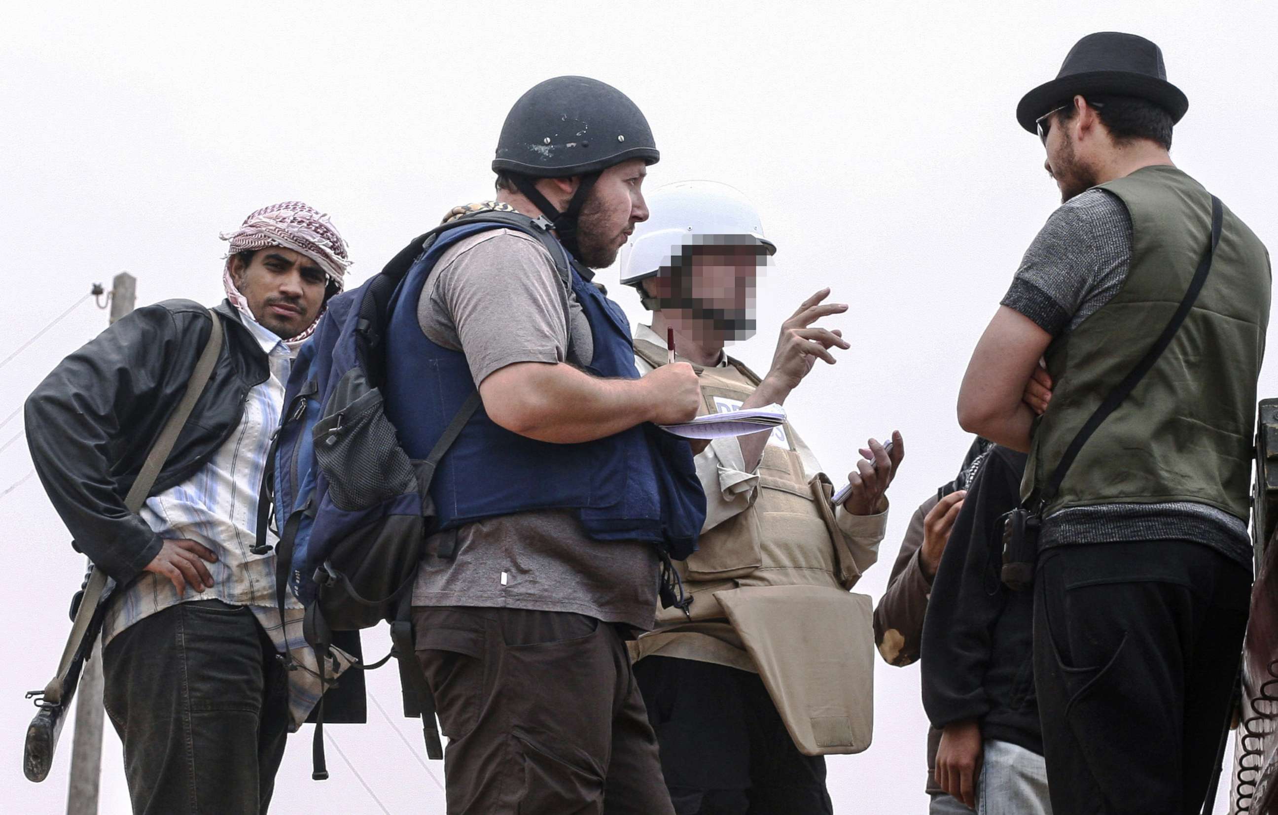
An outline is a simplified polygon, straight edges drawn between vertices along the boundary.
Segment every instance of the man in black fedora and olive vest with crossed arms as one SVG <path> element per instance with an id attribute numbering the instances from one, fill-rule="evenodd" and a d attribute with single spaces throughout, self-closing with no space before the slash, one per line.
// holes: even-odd
<path id="1" fill-rule="evenodd" d="M 958 396 L 1030 453 L 1003 577 L 1033 581 L 1057 815 L 1196 812 L 1246 626 L 1269 255 L 1172 164 L 1187 107 L 1157 45 L 1109 32 L 1025 95 L 1063 203 Z"/>

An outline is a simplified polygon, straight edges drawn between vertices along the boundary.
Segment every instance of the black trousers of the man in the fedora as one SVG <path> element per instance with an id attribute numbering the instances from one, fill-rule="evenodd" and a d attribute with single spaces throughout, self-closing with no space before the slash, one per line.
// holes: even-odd
<path id="1" fill-rule="evenodd" d="M 1056 815 L 1199 811 L 1250 589 L 1247 570 L 1197 543 L 1043 553 L 1034 671 Z"/>

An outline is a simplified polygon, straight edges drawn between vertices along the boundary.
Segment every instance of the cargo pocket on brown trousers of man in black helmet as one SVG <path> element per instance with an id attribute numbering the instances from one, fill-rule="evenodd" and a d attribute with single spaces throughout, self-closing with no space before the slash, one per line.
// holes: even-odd
<path id="1" fill-rule="evenodd" d="M 603 812 L 603 769 L 588 754 L 562 741 L 552 749 L 521 727 L 511 729 L 523 772 L 520 815 L 597 815 Z"/>

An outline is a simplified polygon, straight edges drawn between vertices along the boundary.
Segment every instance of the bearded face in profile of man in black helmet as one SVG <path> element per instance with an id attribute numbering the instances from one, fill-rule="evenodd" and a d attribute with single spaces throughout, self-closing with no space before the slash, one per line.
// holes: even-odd
<path id="1" fill-rule="evenodd" d="M 576 245 L 585 266 L 612 266 L 635 224 L 648 220 L 642 189 L 647 175 L 642 158 L 613 165 L 599 174 L 576 220 Z"/>

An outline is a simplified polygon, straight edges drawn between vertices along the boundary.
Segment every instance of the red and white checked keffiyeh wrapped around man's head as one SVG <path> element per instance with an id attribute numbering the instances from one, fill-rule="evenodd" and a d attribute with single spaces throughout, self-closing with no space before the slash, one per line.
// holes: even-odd
<path id="1" fill-rule="evenodd" d="M 300 201 L 285 201 L 262 207 L 244 218 L 244 224 L 238 230 L 221 232 L 219 238 L 230 241 L 230 247 L 226 249 L 226 266 L 222 268 L 222 286 L 226 289 L 226 299 L 249 317 L 253 317 L 253 312 L 249 310 L 248 299 L 240 294 L 231 278 L 231 255 L 267 247 L 284 247 L 300 252 L 320 264 L 337 291 L 341 291 L 343 277 L 346 275 L 346 267 L 350 266 L 346 241 L 341 239 L 328 216 Z M 323 312 L 325 309 L 321 308 L 316 321 L 298 336 L 286 340 L 286 345 L 295 350 L 305 342 L 314 332 Z"/>

